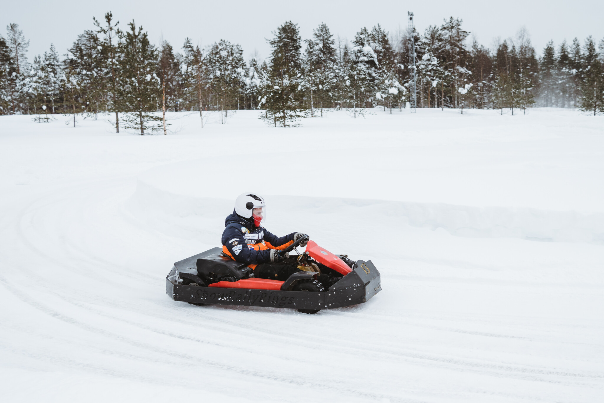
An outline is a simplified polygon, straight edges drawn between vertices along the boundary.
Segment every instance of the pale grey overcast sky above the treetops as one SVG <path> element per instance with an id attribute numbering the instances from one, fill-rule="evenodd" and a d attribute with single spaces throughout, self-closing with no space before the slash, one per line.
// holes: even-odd
<path id="1" fill-rule="evenodd" d="M 352 40 L 361 27 L 381 24 L 385 30 L 406 27 L 407 11 L 413 11 L 420 32 L 428 25 L 440 25 L 443 18 L 463 19 L 463 27 L 487 47 L 495 37 L 506 39 L 521 27 L 530 33 L 537 53 L 553 39 L 558 45 L 579 37 L 583 42 L 592 35 L 599 42 L 604 38 L 604 0 L 498 1 L 358 1 L 306 0 L 288 5 L 288 1 L 115 1 L 54 2 L 3 0 L 0 26 L 19 24 L 30 40 L 28 57 L 42 54 L 51 42 L 64 54 L 77 35 L 92 29 L 92 17 L 102 19 L 112 11 L 120 26 L 135 19 L 149 32 L 152 42 L 163 36 L 176 50 L 185 37 L 194 44 L 205 46 L 219 39 L 230 40 L 243 47 L 245 59 L 257 50 L 260 57 L 269 55 L 265 38 L 271 37 L 278 25 L 291 20 L 298 24 L 303 39 L 312 35 L 313 28 L 325 22 L 333 34 Z M 7 4 L 8 3 L 8 4 Z M 1 30 L 3 36 L 5 31 Z"/>

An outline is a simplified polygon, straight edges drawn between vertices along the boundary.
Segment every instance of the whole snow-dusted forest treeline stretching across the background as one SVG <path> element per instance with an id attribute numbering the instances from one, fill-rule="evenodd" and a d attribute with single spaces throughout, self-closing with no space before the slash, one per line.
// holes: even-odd
<path id="1" fill-rule="evenodd" d="M 112 13 L 80 34 L 62 56 L 51 45 L 28 60 L 29 41 L 17 24 L 0 35 L 0 114 L 112 114 L 117 132 L 166 132 L 166 111 L 261 109 L 274 126 L 295 126 L 326 108 L 356 117 L 366 108 L 405 108 L 413 100 L 416 52 L 417 108 L 517 109 L 530 106 L 604 112 L 604 39 L 591 36 L 540 54 L 522 29 L 493 50 L 469 43 L 461 19 L 388 34 L 362 28 L 352 42 L 334 37 L 326 24 L 302 40 L 285 22 L 269 40 L 266 60 L 245 60 L 240 45 L 220 40 L 205 48 L 185 39 L 152 44 L 132 21 L 121 28 Z M 158 114 L 157 112 L 163 112 Z"/>

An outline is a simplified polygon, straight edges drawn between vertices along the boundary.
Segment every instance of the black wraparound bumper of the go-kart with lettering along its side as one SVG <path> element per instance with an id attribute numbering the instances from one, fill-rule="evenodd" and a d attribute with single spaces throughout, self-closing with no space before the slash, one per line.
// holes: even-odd
<path id="1" fill-rule="evenodd" d="M 326 292 L 188 286 L 178 284 L 176 267 L 166 277 L 165 292 L 175 301 L 190 303 L 331 309 L 367 302 L 381 289 L 379 271 L 371 260 L 359 260 L 356 269 Z"/>

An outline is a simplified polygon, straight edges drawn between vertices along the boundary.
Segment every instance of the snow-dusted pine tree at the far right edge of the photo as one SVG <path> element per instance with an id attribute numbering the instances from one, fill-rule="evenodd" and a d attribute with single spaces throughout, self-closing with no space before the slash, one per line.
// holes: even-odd
<path id="1" fill-rule="evenodd" d="M 581 92 L 582 111 L 604 112 L 604 68 L 591 36 L 585 40 Z"/>

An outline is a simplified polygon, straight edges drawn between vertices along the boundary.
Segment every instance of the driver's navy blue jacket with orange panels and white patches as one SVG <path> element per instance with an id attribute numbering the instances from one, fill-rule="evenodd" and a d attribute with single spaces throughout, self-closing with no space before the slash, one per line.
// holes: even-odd
<path id="1" fill-rule="evenodd" d="M 253 218 L 243 218 L 233 210 L 226 216 L 222 251 L 237 262 L 255 265 L 271 261 L 271 249 L 283 250 L 294 243 L 294 233 L 277 237 L 264 227 L 255 227 Z"/>

